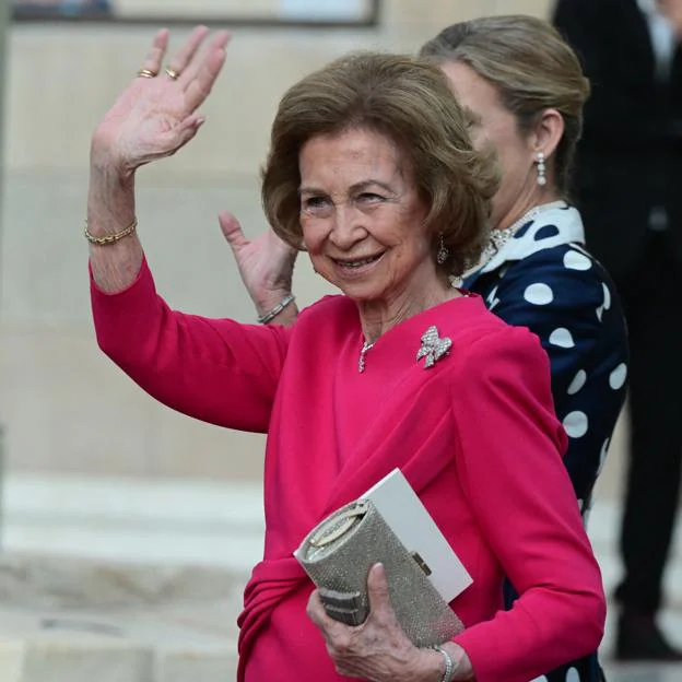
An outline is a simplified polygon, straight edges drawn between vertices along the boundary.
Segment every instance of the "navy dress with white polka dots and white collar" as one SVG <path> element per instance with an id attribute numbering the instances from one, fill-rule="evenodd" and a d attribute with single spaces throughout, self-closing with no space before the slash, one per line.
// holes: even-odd
<path id="1" fill-rule="evenodd" d="M 584 249 L 576 209 L 551 204 L 522 225 L 463 289 L 506 322 L 527 327 L 546 351 L 556 415 L 568 435 L 565 463 L 583 518 L 603 467 L 627 378 L 623 314 L 604 269 Z M 508 586 L 507 604 L 514 600 Z M 546 682 L 598 682 L 597 655 L 548 673 Z"/>

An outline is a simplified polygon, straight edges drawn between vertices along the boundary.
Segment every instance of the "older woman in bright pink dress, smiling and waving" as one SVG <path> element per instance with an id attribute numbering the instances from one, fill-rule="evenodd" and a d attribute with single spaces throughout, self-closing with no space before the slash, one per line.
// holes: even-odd
<path id="1" fill-rule="evenodd" d="M 227 43 L 217 34 L 201 51 L 205 37 L 198 28 L 164 71 L 160 33 L 95 130 L 86 237 L 111 360 L 175 410 L 268 434 L 266 543 L 239 619 L 238 679 L 528 682 L 593 650 L 604 597 L 546 355 L 450 284 L 486 242 L 497 179 L 446 77 L 419 58 L 361 54 L 286 92 L 263 207 L 341 293 L 292 328 L 208 319 L 158 295 L 134 212 L 137 169 L 203 124 Z M 427 330 L 447 352 L 426 348 Z M 473 578 L 450 603 L 465 630 L 437 648 L 405 636 L 381 565 L 367 576 L 368 618 L 349 626 L 292 555 L 395 468 Z M 504 576 L 519 592 L 506 612 Z"/>

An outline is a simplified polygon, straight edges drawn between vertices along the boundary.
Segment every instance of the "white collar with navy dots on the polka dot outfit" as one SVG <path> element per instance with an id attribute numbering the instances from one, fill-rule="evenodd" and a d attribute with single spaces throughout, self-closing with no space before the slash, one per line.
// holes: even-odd
<path id="1" fill-rule="evenodd" d="M 580 213 L 567 203 L 542 211 L 536 217 L 531 217 L 529 223 L 521 226 L 485 264 L 468 272 L 467 277 L 491 272 L 507 261 L 521 260 L 555 246 L 572 243 L 585 244 L 585 230 Z M 556 228 L 555 234 L 536 239 L 543 227 L 550 230 L 551 226 Z"/>

